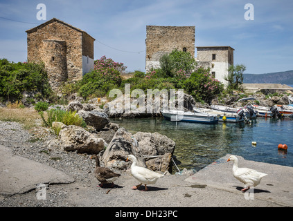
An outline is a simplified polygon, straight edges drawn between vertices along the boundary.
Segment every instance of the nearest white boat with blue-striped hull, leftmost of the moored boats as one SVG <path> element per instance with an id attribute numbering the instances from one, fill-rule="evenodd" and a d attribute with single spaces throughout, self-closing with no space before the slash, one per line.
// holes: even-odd
<path id="1" fill-rule="evenodd" d="M 174 122 L 191 122 L 200 124 L 217 124 L 219 116 L 209 113 L 193 113 L 190 111 L 162 111 L 163 117 Z"/>

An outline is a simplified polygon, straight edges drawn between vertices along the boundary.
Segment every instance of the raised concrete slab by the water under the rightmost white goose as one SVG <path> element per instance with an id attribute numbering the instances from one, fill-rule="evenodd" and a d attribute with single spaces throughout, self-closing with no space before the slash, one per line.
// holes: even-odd
<path id="1" fill-rule="evenodd" d="M 249 193 L 242 193 L 241 189 L 244 188 L 244 184 L 233 177 L 233 162 L 227 162 L 229 156 L 230 154 L 216 160 L 185 181 L 239 193 L 244 195 L 247 200 L 256 198 L 276 202 L 283 206 L 293 206 L 293 167 L 254 162 L 237 156 L 239 167 L 247 167 L 268 174 Z"/>

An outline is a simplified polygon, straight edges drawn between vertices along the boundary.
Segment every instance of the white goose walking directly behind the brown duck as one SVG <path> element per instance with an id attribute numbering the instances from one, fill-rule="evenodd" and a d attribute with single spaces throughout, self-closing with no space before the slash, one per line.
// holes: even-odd
<path id="1" fill-rule="evenodd" d="M 136 180 L 139 180 L 140 184 L 136 186 L 132 186 L 132 189 L 138 189 L 139 186 L 142 184 L 145 185 L 145 191 L 148 191 L 148 187 L 146 186 L 147 184 L 155 184 L 159 177 L 163 177 L 165 173 L 160 174 L 156 173 L 154 171 L 150 171 L 149 169 L 146 169 L 141 166 L 136 166 L 137 160 L 134 155 L 128 155 L 126 161 L 132 160 L 132 165 L 131 165 L 131 173 L 136 178 Z"/>

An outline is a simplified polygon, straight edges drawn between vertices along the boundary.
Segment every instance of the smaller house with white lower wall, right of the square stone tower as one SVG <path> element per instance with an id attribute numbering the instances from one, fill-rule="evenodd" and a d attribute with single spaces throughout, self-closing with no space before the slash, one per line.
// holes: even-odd
<path id="1" fill-rule="evenodd" d="M 224 77 L 233 65 L 233 51 L 230 46 L 197 47 L 197 67 L 210 68 L 211 75 L 227 85 Z"/>

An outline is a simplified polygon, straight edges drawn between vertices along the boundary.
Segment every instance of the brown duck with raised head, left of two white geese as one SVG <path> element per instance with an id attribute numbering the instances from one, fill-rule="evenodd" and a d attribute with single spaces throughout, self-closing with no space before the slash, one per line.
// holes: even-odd
<path id="1" fill-rule="evenodd" d="M 112 186 L 114 186 L 113 181 L 117 179 L 117 177 L 120 176 L 118 173 L 114 173 L 110 169 L 100 166 L 100 160 L 98 160 L 98 156 L 96 154 L 91 156 L 91 159 L 95 158 L 96 160 L 96 169 L 94 172 L 95 177 L 98 181 L 100 181 L 100 185 L 98 187 L 103 187 L 103 184 L 112 183 Z"/>

